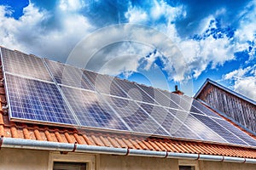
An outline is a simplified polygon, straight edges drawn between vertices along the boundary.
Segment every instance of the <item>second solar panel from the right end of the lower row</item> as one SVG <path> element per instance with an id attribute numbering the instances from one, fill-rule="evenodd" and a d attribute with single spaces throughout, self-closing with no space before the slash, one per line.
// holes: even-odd
<path id="1" fill-rule="evenodd" d="M 220 135 L 222 138 L 226 139 L 229 143 L 247 145 L 241 139 L 238 139 L 234 134 L 230 133 L 224 127 L 220 126 L 217 122 L 212 121 L 212 119 L 210 117 L 196 115 L 193 113 L 192 113 L 192 115 L 195 116 L 196 119 L 203 122 L 208 127 L 211 127 L 211 129 L 215 133 L 218 133 L 218 135 Z"/>

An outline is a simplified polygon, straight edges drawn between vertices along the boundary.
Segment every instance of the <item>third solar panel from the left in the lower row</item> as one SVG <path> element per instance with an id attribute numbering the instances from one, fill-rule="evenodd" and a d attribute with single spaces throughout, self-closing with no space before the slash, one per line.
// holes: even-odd
<path id="1" fill-rule="evenodd" d="M 107 95 L 104 98 L 134 132 L 169 136 L 136 102 Z"/>

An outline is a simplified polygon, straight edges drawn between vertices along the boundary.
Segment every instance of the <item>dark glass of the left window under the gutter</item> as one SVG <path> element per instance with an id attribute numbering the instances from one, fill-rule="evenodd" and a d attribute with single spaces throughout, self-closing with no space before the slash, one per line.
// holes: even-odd
<path id="1" fill-rule="evenodd" d="M 86 170 L 86 163 L 55 161 L 53 170 Z"/>

